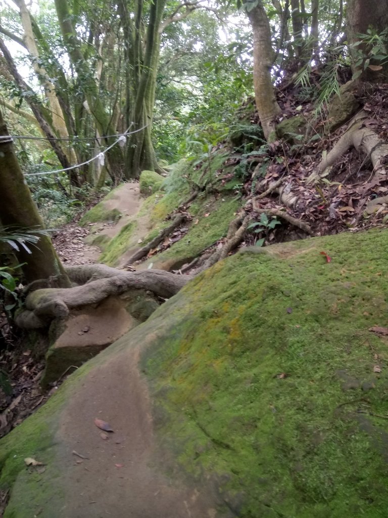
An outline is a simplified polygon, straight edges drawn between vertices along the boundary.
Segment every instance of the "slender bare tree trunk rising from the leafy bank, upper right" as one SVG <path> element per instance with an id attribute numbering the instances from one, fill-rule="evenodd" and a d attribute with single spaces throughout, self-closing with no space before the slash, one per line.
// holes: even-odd
<path id="1" fill-rule="evenodd" d="M 253 86 L 256 108 L 266 140 L 275 130 L 275 119 L 280 113 L 271 79 L 273 49 L 270 22 L 261 0 L 248 13 L 253 30 Z"/>

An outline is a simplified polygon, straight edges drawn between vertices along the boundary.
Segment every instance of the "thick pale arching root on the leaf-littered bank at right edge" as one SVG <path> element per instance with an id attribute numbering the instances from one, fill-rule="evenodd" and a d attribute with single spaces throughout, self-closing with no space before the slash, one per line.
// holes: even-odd
<path id="1" fill-rule="evenodd" d="M 306 182 L 318 182 L 322 177 L 330 174 L 331 167 L 352 146 L 361 149 L 370 159 L 374 174 L 386 175 L 384 157 L 388 155 L 388 143 L 382 140 L 371 128 L 365 127 L 364 122 L 369 115 L 361 110 L 354 117 L 348 130 L 338 140 L 334 148 L 323 157 L 318 170 L 312 172 Z"/>

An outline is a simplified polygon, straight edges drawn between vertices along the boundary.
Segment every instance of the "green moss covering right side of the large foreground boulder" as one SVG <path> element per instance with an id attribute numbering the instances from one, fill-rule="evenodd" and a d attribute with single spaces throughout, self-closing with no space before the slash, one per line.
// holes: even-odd
<path id="1" fill-rule="evenodd" d="M 174 322 L 143 358 L 160 440 L 237 516 L 386 515 L 387 237 L 237 254 L 152 316 Z"/>

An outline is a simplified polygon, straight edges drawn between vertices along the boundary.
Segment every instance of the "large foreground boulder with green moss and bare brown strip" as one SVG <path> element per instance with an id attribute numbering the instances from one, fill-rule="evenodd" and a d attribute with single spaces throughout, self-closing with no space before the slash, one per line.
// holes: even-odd
<path id="1" fill-rule="evenodd" d="M 387 255 L 377 229 L 203 272 L 0 441 L 5 518 L 384 516 Z"/>

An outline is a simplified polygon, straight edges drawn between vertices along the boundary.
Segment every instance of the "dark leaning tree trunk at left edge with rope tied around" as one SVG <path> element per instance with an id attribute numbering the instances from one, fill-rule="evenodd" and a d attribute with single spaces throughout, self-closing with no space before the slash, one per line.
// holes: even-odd
<path id="1" fill-rule="evenodd" d="M 7 126 L 0 110 L 0 136 L 8 136 Z M 0 221 L 4 226 L 42 229 L 43 221 L 25 183 L 23 173 L 13 151 L 12 139 L 0 139 Z M 48 236 L 40 236 L 39 242 L 29 254 L 23 247 L 14 251 L 22 266 L 25 280 L 53 279 L 55 285 L 68 287 L 70 281 L 56 255 Z"/>

